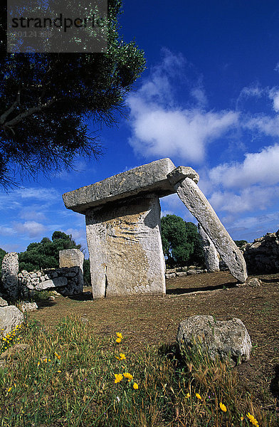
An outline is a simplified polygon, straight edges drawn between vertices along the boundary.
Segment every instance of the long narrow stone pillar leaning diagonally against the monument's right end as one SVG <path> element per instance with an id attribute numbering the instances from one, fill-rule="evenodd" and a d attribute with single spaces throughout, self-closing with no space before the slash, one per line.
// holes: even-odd
<path id="1" fill-rule="evenodd" d="M 185 178 L 175 184 L 174 172 L 169 179 L 174 184 L 179 198 L 199 221 L 206 234 L 211 238 L 233 277 L 244 283 L 247 279 L 246 263 L 236 243 L 226 231 L 206 196 L 191 178 Z"/>

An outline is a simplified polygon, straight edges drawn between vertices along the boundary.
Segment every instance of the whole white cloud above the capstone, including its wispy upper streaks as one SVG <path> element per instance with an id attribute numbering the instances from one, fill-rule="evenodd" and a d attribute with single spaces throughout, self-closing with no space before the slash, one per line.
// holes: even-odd
<path id="1" fill-rule="evenodd" d="M 130 144 L 144 157 L 176 156 L 187 162 L 202 162 L 207 144 L 238 123 L 238 112 L 204 110 L 207 100 L 201 78 L 189 83 L 184 68 L 181 56 L 164 51 L 162 64 L 152 70 L 137 93 L 127 97 L 132 127 Z M 176 85 L 172 85 L 172 79 L 176 76 L 186 85 L 189 99 L 194 99 L 192 104 L 188 100 L 187 107 L 177 106 L 174 100 Z"/>

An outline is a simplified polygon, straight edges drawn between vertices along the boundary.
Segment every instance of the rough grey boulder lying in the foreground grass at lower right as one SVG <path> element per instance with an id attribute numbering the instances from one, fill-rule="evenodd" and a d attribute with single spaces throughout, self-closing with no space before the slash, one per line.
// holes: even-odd
<path id="1" fill-rule="evenodd" d="M 212 359 L 229 358 L 235 364 L 250 359 L 251 339 L 240 319 L 214 320 L 213 316 L 190 316 L 179 324 L 177 342 L 183 349 L 195 345 Z"/>

